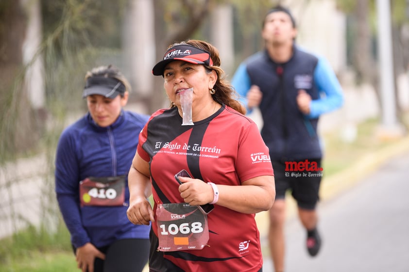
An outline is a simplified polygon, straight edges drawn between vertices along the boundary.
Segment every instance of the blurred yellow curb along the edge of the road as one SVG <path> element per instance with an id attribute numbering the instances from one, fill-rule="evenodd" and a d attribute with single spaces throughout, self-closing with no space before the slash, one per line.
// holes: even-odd
<path id="1" fill-rule="evenodd" d="M 326 202 L 357 185 L 364 177 L 375 172 L 387 160 L 409 152 L 409 136 L 402 137 L 396 143 L 389 144 L 374 152 L 363 155 L 358 162 L 340 173 L 324 177 L 320 188 L 320 202 Z M 320 204 L 319 204 L 320 205 Z M 297 214 L 297 204 L 292 197 L 286 197 L 287 220 Z M 256 214 L 260 238 L 267 237 L 269 226 L 268 211 Z"/>

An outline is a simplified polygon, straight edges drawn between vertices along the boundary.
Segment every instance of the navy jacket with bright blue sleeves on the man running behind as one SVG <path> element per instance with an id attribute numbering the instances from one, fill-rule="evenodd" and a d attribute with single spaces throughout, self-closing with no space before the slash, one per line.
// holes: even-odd
<path id="1" fill-rule="evenodd" d="M 318 118 L 341 107 L 341 85 L 330 65 L 296 46 L 287 63 L 275 63 L 267 50 L 257 52 L 239 65 L 232 85 L 247 105 L 251 85 L 263 93 L 259 109 L 263 118 L 261 135 L 272 160 L 321 159 L 317 135 Z M 312 97 L 310 114 L 297 107 L 296 96 L 304 89 Z"/>

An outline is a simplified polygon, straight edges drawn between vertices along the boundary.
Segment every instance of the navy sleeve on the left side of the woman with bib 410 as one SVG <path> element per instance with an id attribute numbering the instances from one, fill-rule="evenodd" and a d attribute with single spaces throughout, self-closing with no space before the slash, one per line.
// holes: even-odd
<path id="1" fill-rule="evenodd" d="M 75 247 L 90 239 L 86 233 L 79 204 L 79 167 L 75 155 L 75 139 L 68 131 L 61 134 L 55 156 L 55 192 L 64 222 Z"/>

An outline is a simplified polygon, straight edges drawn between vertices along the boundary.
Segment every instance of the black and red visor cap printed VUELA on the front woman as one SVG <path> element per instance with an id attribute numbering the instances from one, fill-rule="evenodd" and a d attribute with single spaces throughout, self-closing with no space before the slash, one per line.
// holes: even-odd
<path id="1" fill-rule="evenodd" d="M 152 73 L 155 76 L 163 76 L 163 70 L 166 64 L 172 61 L 184 61 L 192 64 L 206 64 L 208 66 L 213 65 L 213 61 L 210 58 L 210 53 L 204 49 L 197 48 L 187 44 L 180 44 L 169 48 L 163 60 L 153 66 Z"/>

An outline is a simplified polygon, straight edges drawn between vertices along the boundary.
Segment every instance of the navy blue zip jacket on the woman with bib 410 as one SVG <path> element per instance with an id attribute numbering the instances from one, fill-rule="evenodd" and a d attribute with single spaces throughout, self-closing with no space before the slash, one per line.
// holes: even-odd
<path id="1" fill-rule="evenodd" d="M 129 204 L 128 172 L 139 132 L 149 116 L 122 111 L 109 127 L 94 123 L 89 112 L 66 128 L 55 158 L 55 192 L 74 247 L 91 242 L 96 247 L 115 240 L 149 239 L 150 226 L 129 222 L 128 207 L 80 207 L 79 184 L 89 176 L 126 176 L 125 202 Z"/>

